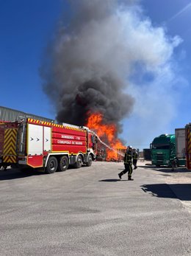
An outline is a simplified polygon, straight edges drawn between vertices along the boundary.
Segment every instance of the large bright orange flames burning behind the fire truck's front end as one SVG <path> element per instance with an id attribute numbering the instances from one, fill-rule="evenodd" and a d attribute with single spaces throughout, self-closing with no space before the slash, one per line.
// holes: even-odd
<path id="1" fill-rule="evenodd" d="M 120 142 L 120 139 L 116 138 L 117 128 L 115 124 L 104 124 L 103 115 L 94 113 L 89 114 L 87 127 L 95 131 L 100 139 L 112 148 L 112 150 L 106 148 L 107 161 L 121 159 L 122 151 L 125 150 L 126 147 Z"/>

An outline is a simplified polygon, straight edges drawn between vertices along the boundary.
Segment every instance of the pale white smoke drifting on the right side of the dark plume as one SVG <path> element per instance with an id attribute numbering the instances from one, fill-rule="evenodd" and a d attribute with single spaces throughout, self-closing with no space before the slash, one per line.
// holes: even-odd
<path id="1" fill-rule="evenodd" d="M 123 121 L 123 136 L 136 148 L 149 148 L 154 136 L 167 133 L 176 117 L 179 107 L 176 86 L 185 81 L 176 74 L 173 52 L 182 40 L 167 35 L 165 28 L 154 27 L 141 13 L 127 11 L 123 15 L 128 49 L 134 56 L 132 61 L 137 63 L 128 79 L 128 92 L 135 103 L 131 117 Z"/>

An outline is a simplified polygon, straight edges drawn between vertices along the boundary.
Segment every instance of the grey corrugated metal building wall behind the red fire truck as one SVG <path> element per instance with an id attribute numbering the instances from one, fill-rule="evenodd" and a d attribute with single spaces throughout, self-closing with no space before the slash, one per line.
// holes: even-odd
<path id="1" fill-rule="evenodd" d="M 19 121 L 23 118 L 32 118 L 35 120 L 55 122 L 55 120 L 48 119 L 46 117 L 36 116 L 34 114 L 28 114 L 22 111 L 18 111 L 12 108 L 5 108 L 0 106 L 0 120 L 2 121 Z"/>

